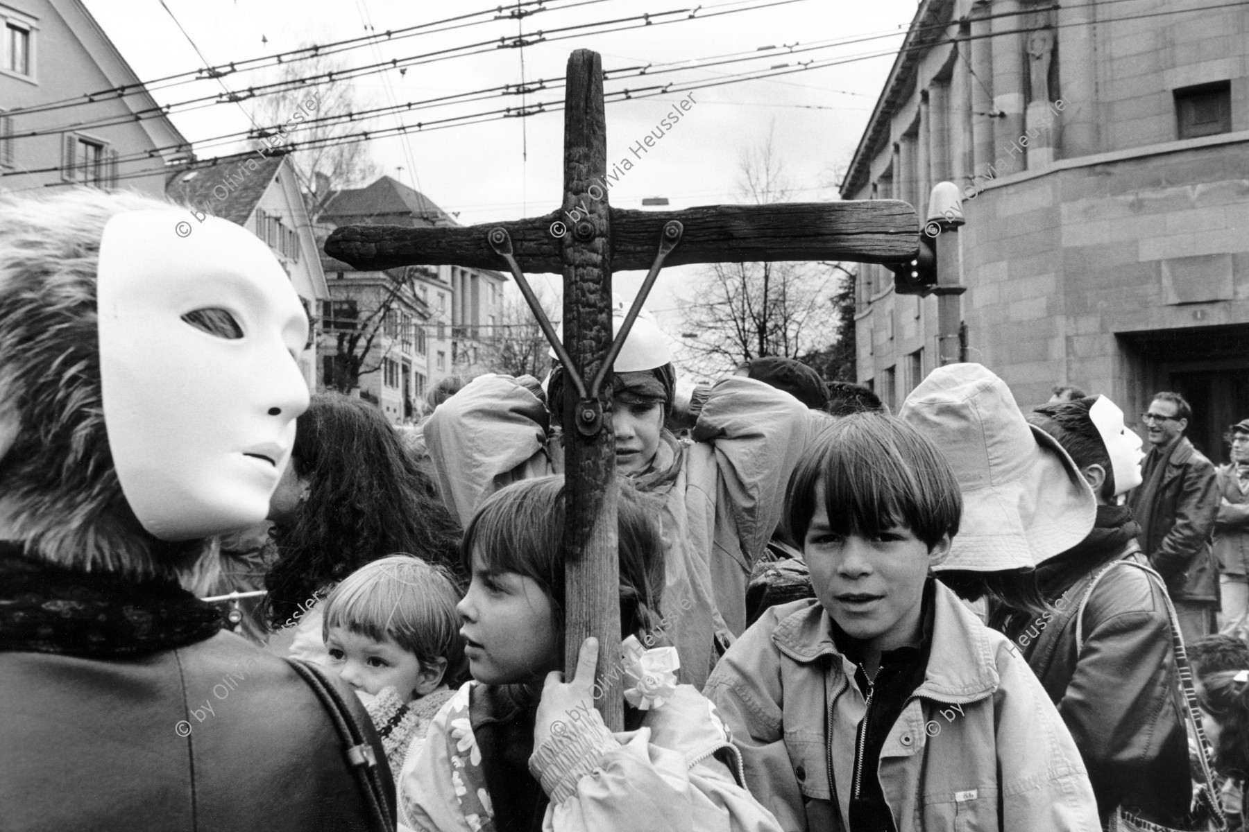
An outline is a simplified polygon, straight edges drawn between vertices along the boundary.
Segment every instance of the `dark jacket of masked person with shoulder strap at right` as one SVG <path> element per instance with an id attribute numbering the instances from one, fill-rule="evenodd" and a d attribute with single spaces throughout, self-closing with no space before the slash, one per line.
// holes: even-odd
<path id="1" fill-rule="evenodd" d="M 1034 641 L 1018 641 L 1084 757 L 1103 823 L 1125 803 L 1175 825 L 1189 803 L 1188 743 L 1163 591 L 1134 566 L 1110 569 L 1084 610 L 1078 654 L 1077 612 L 1095 571 L 1028 630 L 1040 630 Z"/>

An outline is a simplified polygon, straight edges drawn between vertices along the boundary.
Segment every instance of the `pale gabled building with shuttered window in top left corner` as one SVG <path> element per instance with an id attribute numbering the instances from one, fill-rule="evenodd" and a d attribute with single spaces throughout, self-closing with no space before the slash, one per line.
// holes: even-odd
<path id="1" fill-rule="evenodd" d="M 22 112 L 137 84 L 80 0 L 0 2 L 0 190 L 89 185 L 161 196 L 165 166 L 191 153 L 146 91 Z"/>

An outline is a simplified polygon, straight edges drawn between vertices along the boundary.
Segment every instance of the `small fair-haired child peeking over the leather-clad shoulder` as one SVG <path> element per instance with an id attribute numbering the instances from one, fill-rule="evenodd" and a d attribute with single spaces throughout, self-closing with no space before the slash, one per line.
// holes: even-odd
<path id="1" fill-rule="evenodd" d="M 445 568 L 400 554 L 361 566 L 325 602 L 327 666 L 363 700 L 396 780 L 463 676 L 458 601 Z"/>

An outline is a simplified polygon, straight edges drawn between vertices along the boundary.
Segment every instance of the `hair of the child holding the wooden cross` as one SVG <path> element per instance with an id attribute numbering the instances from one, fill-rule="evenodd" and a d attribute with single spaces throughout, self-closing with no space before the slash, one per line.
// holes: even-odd
<path id="1" fill-rule="evenodd" d="M 617 476 L 620 503 L 621 634 L 658 631 L 663 588 L 663 539 L 654 498 Z M 476 553 L 492 573 L 516 573 L 535 580 L 552 600 L 556 627 L 563 630 L 563 476 L 528 479 L 496 491 L 482 503 L 465 530 L 461 558 L 472 571 Z"/>

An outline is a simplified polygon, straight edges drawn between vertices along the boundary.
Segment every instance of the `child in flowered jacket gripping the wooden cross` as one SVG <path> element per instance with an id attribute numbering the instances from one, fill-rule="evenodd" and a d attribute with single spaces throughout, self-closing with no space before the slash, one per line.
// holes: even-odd
<path id="1" fill-rule="evenodd" d="M 741 757 L 714 709 L 678 685 L 676 650 L 657 646 L 663 544 L 648 498 L 618 505 L 624 733 L 595 710 L 598 645 L 562 682 L 562 476 L 510 485 L 468 523 L 460 602 L 473 681 L 433 720 L 400 775 L 401 821 L 417 830 L 779 831 L 739 780 Z M 644 646 L 643 646 L 644 645 Z M 543 681 L 545 680 L 545 681 Z"/>

